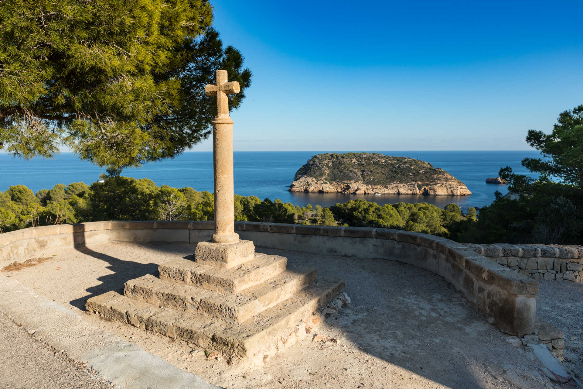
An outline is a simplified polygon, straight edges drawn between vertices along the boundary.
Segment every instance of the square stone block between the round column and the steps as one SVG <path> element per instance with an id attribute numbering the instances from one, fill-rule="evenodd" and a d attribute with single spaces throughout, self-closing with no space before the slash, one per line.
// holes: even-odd
<path id="1" fill-rule="evenodd" d="M 199 242 L 194 252 L 195 261 L 219 268 L 232 268 L 255 257 L 255 245 L 250 240 L 236 243 Z"/>

